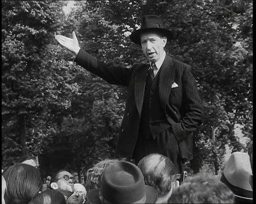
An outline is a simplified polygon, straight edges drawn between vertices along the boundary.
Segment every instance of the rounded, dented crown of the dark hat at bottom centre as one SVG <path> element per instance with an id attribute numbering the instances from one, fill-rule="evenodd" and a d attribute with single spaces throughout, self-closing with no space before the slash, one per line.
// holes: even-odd
<path id="1" fill-rule="evenodd" d="M 140 169 L 126 161 L 116 161 L 103 172 L 101 183 L 103 198 L 111 203 L 145 201 L 145 182 Z"/>

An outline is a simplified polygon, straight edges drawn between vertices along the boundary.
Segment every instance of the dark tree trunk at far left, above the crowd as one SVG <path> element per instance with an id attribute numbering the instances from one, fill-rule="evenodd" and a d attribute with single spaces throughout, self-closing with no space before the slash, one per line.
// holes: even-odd
<path id="1" fill-rule="evenodd" d="M 28 146 L 26 145 L 26 132 L 25 132 L 25 115 L 18 115 L 18 135 L 20 137 L 21 154 L 22 156 L 29 154 Z"/>

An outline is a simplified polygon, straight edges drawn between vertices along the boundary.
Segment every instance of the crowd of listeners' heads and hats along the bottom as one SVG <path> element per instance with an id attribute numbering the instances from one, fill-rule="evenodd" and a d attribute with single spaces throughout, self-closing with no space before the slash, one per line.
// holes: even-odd
<path id="1" fill-rule="evenodd" d="M 253 203 L 252 157 L 251 145 L 248 153 L 233 152 L 221 175 L 188 175 L 185 181 L 158 153 L 137 166 L 105 159 L 87 170 L 84 185 L 66 170 L 42 182 L 35 158 L 25 157 L 2 170 L 2 204 Z"/>

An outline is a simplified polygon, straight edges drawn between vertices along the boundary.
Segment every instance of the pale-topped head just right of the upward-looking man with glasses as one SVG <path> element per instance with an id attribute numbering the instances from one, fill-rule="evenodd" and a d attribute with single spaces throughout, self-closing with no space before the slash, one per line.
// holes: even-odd
<path id="1" fill-rule="evenodd" d="M 85 203 L 86 190 L 82 184 L 74 184 L 74 193 L 67 198 L 67 204 Z"/>

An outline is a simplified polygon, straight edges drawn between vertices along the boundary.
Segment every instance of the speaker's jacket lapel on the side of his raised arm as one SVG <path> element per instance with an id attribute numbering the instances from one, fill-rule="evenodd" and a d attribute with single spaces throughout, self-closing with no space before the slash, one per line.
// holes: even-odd
<path id="1" fill-rule="evenodd" d="M 135 83 L 134 83 L 134 96 L 135 96 L 135 103 L 141 115 L 142 105 L 143 105 L 143 98 L 144 98 L 144 91 L 145 91 L 145 84 L 147 80 L 147 73 L 148 73 L 149 65 L 143 66 L 136 74 Z"/>

